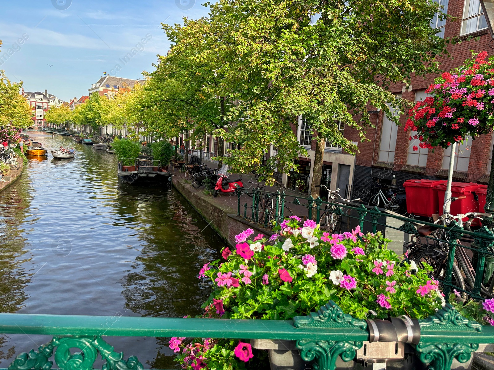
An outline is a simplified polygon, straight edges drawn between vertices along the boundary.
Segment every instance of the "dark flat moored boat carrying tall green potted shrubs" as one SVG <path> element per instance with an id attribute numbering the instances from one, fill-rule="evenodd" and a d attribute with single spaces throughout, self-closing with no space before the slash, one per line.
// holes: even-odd
<path id="1" fill-rule="evenodd" d="M 127 158 L 126 164 L 118 164 L 119 179 L 129 185 L 164 185 L 171 188 L 171 173 L 161 166 L 159 160 Z"/>

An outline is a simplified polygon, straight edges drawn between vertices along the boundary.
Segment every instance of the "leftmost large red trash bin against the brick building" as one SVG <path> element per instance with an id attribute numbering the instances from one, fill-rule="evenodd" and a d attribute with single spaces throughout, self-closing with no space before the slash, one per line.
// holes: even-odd
<path id="1" fill-rule="evenodd" d="M 436 185 L 446 180 L 407 180 L 403 183 L 407 193 L 407 212 L 415 216 L 432 217 L 439 213 Z"/>

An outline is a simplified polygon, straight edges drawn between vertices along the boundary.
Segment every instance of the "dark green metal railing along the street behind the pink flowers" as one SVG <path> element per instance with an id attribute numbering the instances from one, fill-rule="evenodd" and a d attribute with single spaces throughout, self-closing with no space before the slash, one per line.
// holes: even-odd
<path id="1" fill-rule="evenodd" d="M 248 195 L 252 199 L 251 204 L 245 202 L 246 197 L 242 197 L 242 194 Z M 378 230 L 382 232 L 385 230 L 402 231 L 416 240 L 409 244 L 411 247 L 424 246 L 425 248 L 425 245 L 427 245 L 433 249 L 440 245 L 443 246 L 441 248 L 447 246 L 446 272 L 442 277 L 436 277 L 441 282 L 446 296 L 455 289 L 476 299 L 485 298 L 486 295 L 482 294 L 482 285 L 494 279 L 494 233 L 485 226 L 476 231 L 469 231 L 460 227 L 457 222 L 452 222 L 450 226 L 445 227 L 432 222 L 417 221 L 394 213 L 383 212 L 377 207 L 371 208 L 351 202 L 331 203 L 323 201 L 321 198 L 314 199 L 312 196 L 301 198 L 287 195 L 283 191 L 272 193 L 264 190 L 243 189 L 242 194 L 238 194 L 238 216 L 242 216 L 250 222 L 260 223 L 266 228 L 281 222 L 284 217 L 290 216 L 291 213 L 301 218 L 306 217 L 307 219 L 316 220 L 318 223 L 325 219 L 325 213 L 332 213 L 336 215 L 341 224 L 340 229 L 331 230 L 334 232 L 350 231 L 355 226 L 360 225 L 363 232 L 375 233 Z M 266 205 L 268 205 L 268 208 L 265 209 Z M 393 225 L 387 222 L 389 219 L 403 223 Z M 444 230 L 443 235 L 445 238 L 438 238 L 434 234 L 421 236 L 418 231 L 419 225 L 439 227 Z M 466 285 L 465 288 L 452 283 L 453 264 L 455 252 L 458 248 L 458 240 L 463 241 L 461 248 L 471 251 L 473 268 L 475 269 L 474 283 Z M 486 271 L 488 272 L 487 274 Z M 465 283 L 468 282 L 466 281 Z"/>

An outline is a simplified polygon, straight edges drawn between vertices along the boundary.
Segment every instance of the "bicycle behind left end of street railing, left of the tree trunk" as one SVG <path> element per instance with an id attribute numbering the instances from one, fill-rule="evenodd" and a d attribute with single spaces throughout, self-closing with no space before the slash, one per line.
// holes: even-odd
<path id="1" fill-rule="evenodd" d="M 264 223 L 265 218 L 268 218 L 268 222 L 272 224 L 274 221 L 283 220 L 285 217 L 290 217 L 293 215 L 290 207 L 288 207 L 285 203 L 283 207 L 282 214 L 282 202 L 276 201 L 275 197 L 271 197 L 270 194 L 264 191 L 264 186 L 262 184 L 254 183 L 253 181 L 248 181 L 248 184 L 255 185 L 252 189 L 257 190 L 259 193 L 256 196 L 256 200 L 254 201 L 254 220 L 256 222 Z M 278 183 L 275 181 L 275 183 Z M 278 183 L 280 188 L 285 191 L 287 187 L 281 183 Z M 253 197 L 247 192 L 247 195 Z"/>

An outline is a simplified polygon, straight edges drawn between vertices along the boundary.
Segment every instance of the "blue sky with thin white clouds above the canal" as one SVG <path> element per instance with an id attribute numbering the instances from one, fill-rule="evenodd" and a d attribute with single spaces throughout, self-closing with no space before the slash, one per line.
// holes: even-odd
<path id="1" fill-rule="evenodd" d="M 0 58 L 16 50 L 0 69 L 26 91 L 48 90 L 60 99 L 87 95 L 104 72 L 140 78 L 157 54 L 169 49 L 161 22 L 207 14 L 204 0 L 1 0 Z M 63 8 L 67 7 L 62 10 Z M 62 8 L 62 9 L 60 9 Z M 24 35 L 24 43 L 15 42 Z M 119 61 L 142 39 L 148 41 L 127 63 Z M 121 65 L 117 72 L 115 66 Z M 113 71 L 113 72 L 112 72 Z"/>

